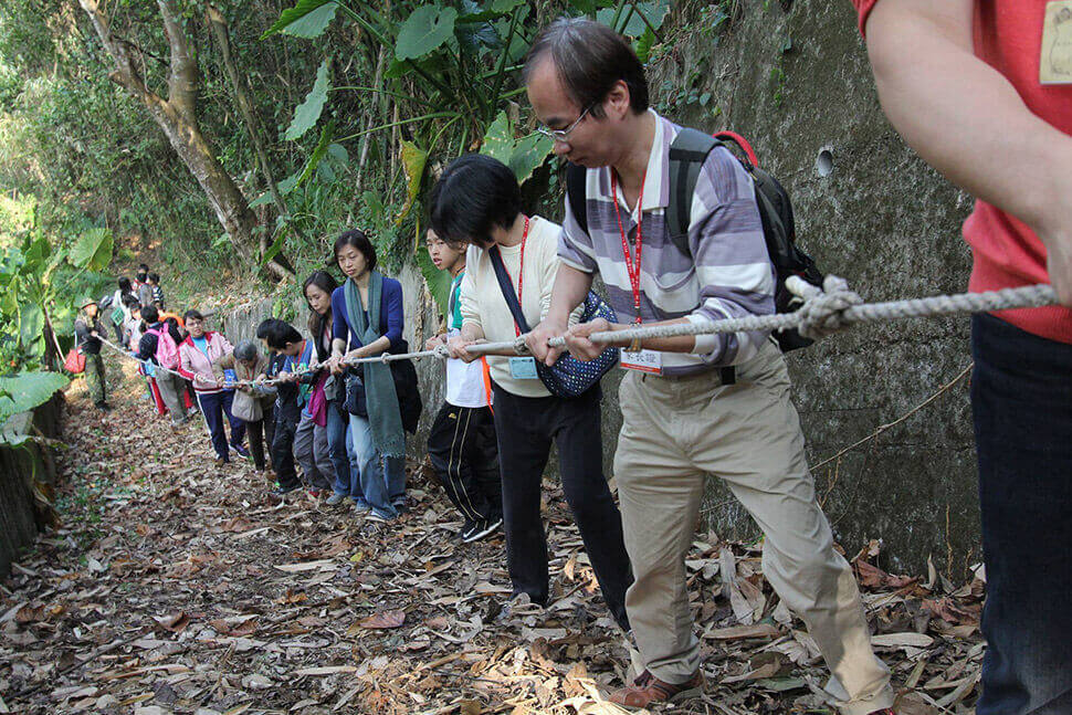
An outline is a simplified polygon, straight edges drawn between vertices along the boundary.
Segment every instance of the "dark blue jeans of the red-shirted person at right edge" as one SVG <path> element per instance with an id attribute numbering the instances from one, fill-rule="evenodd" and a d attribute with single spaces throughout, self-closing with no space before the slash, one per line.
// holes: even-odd
<path id="1" fill-rule="evenodd" d="M 987 601 L 979 715 L 1072 713 L 1072 345 L 973 319 Z"/>

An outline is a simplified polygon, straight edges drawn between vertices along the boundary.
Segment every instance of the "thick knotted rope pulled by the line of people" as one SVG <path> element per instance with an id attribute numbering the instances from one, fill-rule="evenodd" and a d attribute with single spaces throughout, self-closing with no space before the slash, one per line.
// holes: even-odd
<path id="1" fill-rule="evenodd" d="M 786 280 L 786 287 L 797 296 L 800 307 L 794 313 L 776 313 L 773 315 L 750 315 L 743 318 L 727 318 L 725 320 L 703 320 L 697 323 L 675 323 L 672 325 L 655 325 L 627 328 L 624 330 L 607 330 L 592 333 L 589 339 L 596 344 L 626 344 L 634 339 L 668 338 L 686 335 L 719 335 L 725 333 L 778 332 L 796 328 L 808 338 L 821 338 L 852 325 L 862 323 L 877 323 L 898 320 L 912 317 L 935 317 L 963 313 L 992 313 L 1013 308 L 1036 308 L 1047 305 L 1058 305 L 1057 293 L 1047 284 L 1028 285 L 1018 288 L 1002 288 L 985 293 L 959 293 L 955 295 L 936 295 L 927 298 L 911 298 L 906 301 L 889 301 L 885 303 L 864 303 L 856 293 L 849 290 L 844 278 L 828 275 L 822 287 L 811 285 L 797 276 Z M 119 354 L 146 362 L 106 338 L 101 341 Z M 563 336 L 550 338 L 549 347 L 565 347 Z M 512 353 L 514 355 L 529 355 L 524 338 L 516 338 L 503 343 L 479 343 L 467 346 L 471 355 L 488 355 Z M 375 357 L 344 359 L 344 366 L 361 365 L 365 362 L 391 362 L 395 360 L 417 360 L 434 357 L 445 359 L 450 357 L 446 346 L 440 345 L 432 350 L 401 353 L 392 355 L 383 353 Z M 323 362 L 313 362 L 308 367 L 295 370 L 293 375 L 307 375 L 326 367 Z M 153 365 L 154 370 L 164 370 L 178 375 L 180 372 Z M 227 382 L 222 387 L 233 388 L 253 385 L 277 385 L 283 382 L 278 378 L 252 381 L 241 380 Z"/>

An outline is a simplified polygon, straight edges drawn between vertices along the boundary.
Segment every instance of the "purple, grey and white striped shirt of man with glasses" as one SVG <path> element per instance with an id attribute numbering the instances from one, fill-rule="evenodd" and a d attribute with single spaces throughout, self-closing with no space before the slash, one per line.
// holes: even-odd
<path id="1" fill-rule="evenodd" d="M 630 253 L 637 240 L 637 211 L 643 212 L 642 320 L 686 317 L 695 323 L 774 313 L 775 270 L 767 253 L 752 177 L 724 147 L 707 156 L 693 194 L 689 222 L 691 255 L 685 255 L 671 240 L 665 220 L 670 204 L 670 144 L 681 127 L 650 112 L 655 116 L 655 136 L 642 206 L 630 212 L 621 187 L 617 196 Z M 558 255 L 579 271 L 598 272 L 618 319 L 633 323 L 633 293 L 610 171 L 609 167 L 587 171 L 587 233 L 566 199 Z M 694 354 L 662 355 L 663 375 L 691 375 L 747 361 L 768 336 L 766 332 L 696 336 Z"/>

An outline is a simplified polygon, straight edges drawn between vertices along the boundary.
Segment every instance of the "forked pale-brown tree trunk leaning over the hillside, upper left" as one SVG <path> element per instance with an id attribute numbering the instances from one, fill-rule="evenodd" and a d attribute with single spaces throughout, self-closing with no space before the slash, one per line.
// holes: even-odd
<path id="1" fill-rule="evenodd" d="M 109 78 L 126 88 L 149 111 L 153 119 L 167 136 L 171 148 L 186 164 L 209 199 L 223 230 L 227 231 L 238 256 L 246 265 L 256 265 L 256 241 L 253 228 L 256 217 L 231 176 L 216 158 L 211 146 L 201 134 L 197 122 L 197 61 L 190 52 L 181 27 L 181 15 L 174 0 L 157 0 L 164 30 L 168 38 L 170 52 L 170 73 L 168 75 L 168 98 L 165 99 L 148 88 L 139 71 L 139 62 L 132 52 L 139 54 L 133 45 L 112 34 L 108 20 L 99 8 L 98 0 L 78 0 L 105 51 L 115 63 Z M 137 57 L 138 60 L 140 56 Z M 281 265 L 269 264 L 276 277 L 293 275 Z"/>

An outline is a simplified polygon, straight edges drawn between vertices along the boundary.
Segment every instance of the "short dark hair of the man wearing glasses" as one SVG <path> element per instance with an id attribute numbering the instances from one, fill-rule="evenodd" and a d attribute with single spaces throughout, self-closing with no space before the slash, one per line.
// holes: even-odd
<path id="1" fill-rule="evenodd" d="M 644 65 L 626 39 L 603 23 L 561 18 L 544 28 L 525 56 L 525 84 L 544 57 L 555 64 L 569 98 L 593 117 L 605 116 L 601 103 L 619 80 L 629 87 L 632 111 L 648 111 Z"/>

